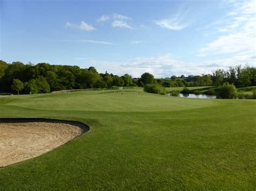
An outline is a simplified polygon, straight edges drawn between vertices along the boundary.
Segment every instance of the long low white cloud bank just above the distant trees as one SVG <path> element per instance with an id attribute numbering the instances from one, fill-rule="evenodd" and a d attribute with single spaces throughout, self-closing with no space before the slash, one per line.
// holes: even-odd
<path id="1" fill-rule="evenodd" d="M 254 61 L 253 61 L 254 60 Z M 255 67 L 255 58 L 248 56 L 247 52 L 240 53 L 226 59 L 215 59 L 200 62 L 184 62 L 173 58 L 170 53 L 150 57 L 137 57 L 119 62 L 95 61 L 86 62 L 86 66 L 95 66 L 100 73 L 105 70 L 113 74 L 125 73 L 133 77 L 140 77 L 149 72 L 155 77 L 170 77 L 172 75 L 201 75 L 210 74 L 215 69 L 228 69 L 230 66 L 246 65 Z"/>

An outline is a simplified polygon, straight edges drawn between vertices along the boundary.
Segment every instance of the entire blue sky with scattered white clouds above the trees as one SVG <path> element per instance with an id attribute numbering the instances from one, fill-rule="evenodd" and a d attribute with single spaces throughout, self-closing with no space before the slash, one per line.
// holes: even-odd
<path id="1" fill-rule="evenodd" d="M 256 0 L 0 0 L 0 60 L 133 77 L 256 67 Z"/>

